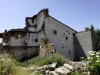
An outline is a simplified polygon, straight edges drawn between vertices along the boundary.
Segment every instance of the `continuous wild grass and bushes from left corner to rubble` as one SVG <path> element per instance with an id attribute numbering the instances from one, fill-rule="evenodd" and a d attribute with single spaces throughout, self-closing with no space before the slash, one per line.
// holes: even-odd
<path id="1" fill-rule="evenodd" d="M 19 62 L 8 54 L 1 54 L 0 75 L 41 75 L 40 72 L 36 71 L 36 67 L 53 62 L 58 62 L 57 66 L 60 66 L 67 60 L 60 54 L 53 54 L 44 58 L 37 56 L 24 62 Z"/>

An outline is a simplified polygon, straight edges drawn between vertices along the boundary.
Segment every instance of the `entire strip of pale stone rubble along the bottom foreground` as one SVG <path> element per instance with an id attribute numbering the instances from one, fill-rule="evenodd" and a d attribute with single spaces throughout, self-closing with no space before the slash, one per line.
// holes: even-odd
<path id="1" fill-rule="evenodd" d="M 43 75 L 71 75 L 74 71 L 82 72 L 83 75 L 89 75 L 86 62 L 65 63 L 63 66 L 56 67 L 57 63 L 38 67 L 37 70 Z"/>

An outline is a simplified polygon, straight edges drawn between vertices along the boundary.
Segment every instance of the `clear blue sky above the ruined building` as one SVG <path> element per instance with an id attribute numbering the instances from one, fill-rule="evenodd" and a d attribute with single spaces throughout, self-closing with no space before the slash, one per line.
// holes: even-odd
<path id="1" fill-rule="evenodd" d="M 100 29 L 100 0 L 0 0 L 0 32 L 23 28 L 25 17 L 43 8 L 48 8 L 52 17 L 77 31 L 91 24 Z"/>

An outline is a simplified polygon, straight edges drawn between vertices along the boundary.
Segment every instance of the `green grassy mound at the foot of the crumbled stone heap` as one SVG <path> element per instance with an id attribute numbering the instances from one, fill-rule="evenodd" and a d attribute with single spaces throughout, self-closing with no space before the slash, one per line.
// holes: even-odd
<path id="1" fill-rule="evenodd" d="M 57 66 L 61 66 L 68 61 L 62 55 L 55 53 L 51 56 L 43 57 L 43 58 L 37 56 L 30 60 L 24 61 L 22 64 L 24 66 L 29 66 L 33 64 L 37 66 L 43 66 L 43 65 L 52 64 L 54 62 L 57 62 Z"/>

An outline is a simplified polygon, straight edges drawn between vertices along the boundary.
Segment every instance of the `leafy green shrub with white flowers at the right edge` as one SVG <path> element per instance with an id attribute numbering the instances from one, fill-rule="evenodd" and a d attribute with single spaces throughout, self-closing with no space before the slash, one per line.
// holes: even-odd
<path id="1" fill-rule="evenodd" d="M 90 51 L 87 60 L 91 74 L 100 75 L 100 52 Z"/>

